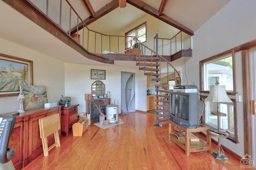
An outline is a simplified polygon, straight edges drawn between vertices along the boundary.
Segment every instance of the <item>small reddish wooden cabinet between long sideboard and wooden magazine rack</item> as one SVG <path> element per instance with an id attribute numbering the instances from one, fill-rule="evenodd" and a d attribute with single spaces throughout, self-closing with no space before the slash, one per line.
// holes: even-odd
<path id="1" fill-rule="evenodd" d="M 61 132 L 66 133 L 66 136 L 77 122 L 78 106 L 79 104 L 61 108 Z"/>

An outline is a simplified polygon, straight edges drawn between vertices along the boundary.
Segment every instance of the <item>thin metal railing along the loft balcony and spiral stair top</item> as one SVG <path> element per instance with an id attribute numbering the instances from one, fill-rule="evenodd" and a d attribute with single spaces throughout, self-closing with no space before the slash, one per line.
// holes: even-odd
<path id="1" fill-rule="evenodd" d="M 37 10 L 41 11 L 41 13 L 45 14 L 48 18 L 50 18 L 50 20 L 52 20 L 54 24 L 58 25 L 63 30 L 63 32 L 67 33 L 68 35 L 70 35 L 70 37 L 75 39 L 77 43 L 79 43 L 82 47 L 84 47 L 84 49 L 86 49 L 86 51 L 96 54 L 126 53 L 125 42 L 126 38 L 129 36 L 106 35 L 89 29 L 86 23 L 84 23 L 82 18 L 78 15 L 78 13 L 68 0 L 27 0 L 27 2 L 34 4 Z M 82 29 L 79 29 L 81 28 L 81 26 Z M 71 32 L 74 32 L 71 30 L 74 29 L 76 29 L 76 33 L 71 34 Z M 131 38 L 132 41 L 134 41 L 132 44 L 137 44 L 137 48 L 139 48 L 141 51 L 141 54 L 136 54 L 136 56 L 157 56 L 159 57 L 160 61 L 166 61 L 167 67 L 171 66 L 174 69 L 170 72 L 176 72 L 178 74 L 178 77 L 180 77 L 180 74 L 176 70 L 176 68 L 174 68 L 174 66 L 171 63 L 164 59 L 164 57 L 162 57 L 160 53 L 158 53 L 155 50 L 162 49 L 162 55 L 165 54 L 164 51 L 166 51 L 166 55 L 176 53 L 179 49 L 183 49 L 185 46 L 187 46 L 187 44 L 189 44 L 187 43 L 187 41 L 190 40 L 190 37 L 188 37 L 187 35 L 185 36 L 185 33 L 182 33 L 180 31 L 171 39 L 159 38 L 160 40 L 162 40 L 162 43 L 160 43 L 160 45 L 157 48 L 154 45 L 154 50 L 140 43 L 140 41 L 138 41 L 136 37 Z M 166 43 L 164 41 L 169 42 Z M 154 37 L 154 42 L 158 42 L 156 37 Z M 169 51 L 166 50 L 167 46 L 171 47 Z M 189 48 L 191 48 L 191 43 L 189 45 Z M 175 49 L 175 51 L 173 51 L 172 49 Z M 151 71 L 153 71 L 153 66 L 151 66 L 151 68 Z"/>

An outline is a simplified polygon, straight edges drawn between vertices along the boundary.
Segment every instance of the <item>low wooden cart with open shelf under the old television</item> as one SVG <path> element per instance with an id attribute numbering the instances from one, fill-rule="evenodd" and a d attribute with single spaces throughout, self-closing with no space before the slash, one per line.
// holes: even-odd
<path id="1" fill-rule="evenodd" d="M 185 139 L 178 140 L 178 138 L 172 134 L 172 127 L 178 127 L 181 131 L 184 131 Z M 169 120 L 169 140 L 172 140 L 179 147 L 185 150 L 186 155 L 189 155 L 190 152 L 201 152 L 201 151 L 211 152 L 211 136 L 210 136 L 210 133 L 208 132 L 209 129 L 210 127 L 205 127 L 205 126 L 199 126 L 197 128 L 187 129 Z M 204 132 L 204 131 L 206 131 L 206 134 L 207 134 L 206 141 L 202 139 L 199 139 L 198 142 L 190 141 L 189 133 Z"/>

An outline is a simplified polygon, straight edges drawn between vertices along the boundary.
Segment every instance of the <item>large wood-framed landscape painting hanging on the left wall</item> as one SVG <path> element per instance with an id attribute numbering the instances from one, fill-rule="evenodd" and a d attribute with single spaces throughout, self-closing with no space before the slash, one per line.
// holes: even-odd
<path id="1" fill-rule="evenodd" d="M 33 85 L 33 61 L 0 53 L 0 97 L 18 96 L 20 86 Z"/>

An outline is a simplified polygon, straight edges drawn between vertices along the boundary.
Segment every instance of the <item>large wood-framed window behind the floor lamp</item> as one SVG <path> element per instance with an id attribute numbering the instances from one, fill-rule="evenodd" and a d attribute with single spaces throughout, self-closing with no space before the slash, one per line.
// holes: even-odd
<path id="1" fill-rule="evenodd" d="M 201 93 L 208 94 L 210 86 L 218 84 L 225 85 L 228 95 L 235 95 L 234 66 L 232 50 L 200 61 Z M 205 102 L 205 115 L 202 123 L 217 129 L 218 119 L 216 115 L 211 114 L 212 111 L 217 111 L 217 103 Z M 229 139 L 237 142 L 236 102 L 220 103 L 220 112 L 226 113 L 226 116 L 220 116 L 220 129 L 229 132 Z"/>

